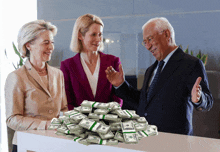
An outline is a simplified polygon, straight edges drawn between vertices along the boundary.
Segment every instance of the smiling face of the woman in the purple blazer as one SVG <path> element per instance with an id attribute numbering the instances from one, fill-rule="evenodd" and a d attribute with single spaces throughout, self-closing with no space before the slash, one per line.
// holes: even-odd
<path id="1" fill-rule="evenodd" d="M 99 50 L 101 42 L 103 40 L 102 34 L 103 34 L 102 25 L 96 23 L 92 24 L 89 27 L 89 30 L 86 32 L 85 36 L 82 36 L 82 34 L 79 33 L 79 39 L 82 42 L 83 50 L 84 51 Z"/>

